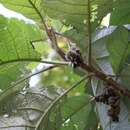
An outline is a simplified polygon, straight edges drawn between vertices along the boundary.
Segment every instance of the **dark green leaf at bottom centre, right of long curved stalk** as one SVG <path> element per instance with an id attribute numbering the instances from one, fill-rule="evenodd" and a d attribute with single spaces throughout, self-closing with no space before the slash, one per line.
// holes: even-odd
<path id="1" fill-rule="evenodd" d="M 80 130 L 96 128 L 98 122 L 89 100 L 88 95 L 63 98 L 61 103 L 55 105 L 48 113 L 49 118 L 46 117 L 39 128 L 50 130 L 50 124 L 60 130 L 67 127 Z"/>

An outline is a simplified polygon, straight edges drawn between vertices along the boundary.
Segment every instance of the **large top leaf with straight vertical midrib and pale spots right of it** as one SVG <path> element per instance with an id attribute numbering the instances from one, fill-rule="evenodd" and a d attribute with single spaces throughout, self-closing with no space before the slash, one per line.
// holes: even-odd
<path id="1" fill-rule="evenodd" d="M 98 25 L 102 18 L 111 10 L 112 1 L 94 0 L 91 4 L 92 21 L 94 26 Z M 84 0 L 43 0 L 45 12 L 52 18 L 60 19 L 66 24 L 70 24 L 78 29 L 85 29 L 88 16 L 87 1 Z M 87 19 L 88 20 L 88 19 Z"/>

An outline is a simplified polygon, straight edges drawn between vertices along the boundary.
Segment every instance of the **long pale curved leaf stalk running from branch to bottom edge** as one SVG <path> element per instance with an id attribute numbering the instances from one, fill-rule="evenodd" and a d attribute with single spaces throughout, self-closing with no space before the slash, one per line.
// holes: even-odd
<path id="1" fill-rule="evenodd" d="M 40 124 L 41 122 L 44 121 L 44 118 L 47 116 L 48 112 L 53 108 L 53 106 L 55 106 L 66 94 L 68 94 L 72 89 L 76 88 L 80 83 L 82 83 L 84 80 L 87 79 L 88 76 L 84 76 L 80 81 L 76 82 L 72 87 L 70 87 L 69 89 L 67 89 L 65 92 L 63 92 L 61 94 L 61 96 L 59 96 L 58 98 L 56 98 L 51 105 L 46 109 L 45 113 L 43 113 L 43 115 L 41 116 L 41 118 L 39 119 L 39 121 L 36 124 L 36 128 L 35 130 L 39 130 Z"/>

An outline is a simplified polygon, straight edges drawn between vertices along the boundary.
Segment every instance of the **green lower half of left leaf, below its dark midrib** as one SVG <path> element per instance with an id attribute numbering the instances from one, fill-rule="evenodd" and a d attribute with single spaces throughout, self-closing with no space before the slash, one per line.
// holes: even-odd
<path id="1" fill-rule="evenodd" d="M 0 89 L 5 90 L 9 86 L 13 86 L 20 77 L 24 77 L 23 75 L 29 72 L 25 66 L 26 64 L 23 63 L 0 66 Z"/>

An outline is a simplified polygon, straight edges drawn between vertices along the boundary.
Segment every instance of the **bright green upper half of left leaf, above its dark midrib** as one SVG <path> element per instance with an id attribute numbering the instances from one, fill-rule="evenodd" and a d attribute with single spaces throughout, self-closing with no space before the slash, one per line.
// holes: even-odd
<path id="1" fill-rule="evenodd" d="M 16 59 L 39 59 L 38 53 L 30 43 L 30 41 L 41 38 L 38 27 L 17 19 L 5 19 L 6 22 L 2 23 L 5 27 L 0 30 L 1 63 Z"/>

